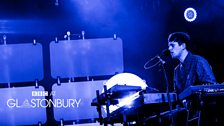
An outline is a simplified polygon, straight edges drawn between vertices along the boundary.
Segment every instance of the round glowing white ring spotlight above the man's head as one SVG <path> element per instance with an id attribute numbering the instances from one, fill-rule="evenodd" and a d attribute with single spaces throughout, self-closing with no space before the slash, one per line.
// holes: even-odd
<path id="1" fill-rule="evenodd" d="M 184 11 L 184 18 L 188 21 L 188 22 L 192 22 L 196 19 L 197 17 L 197 12 L 194 8 L 187 8 L 185 11 Z"/>

